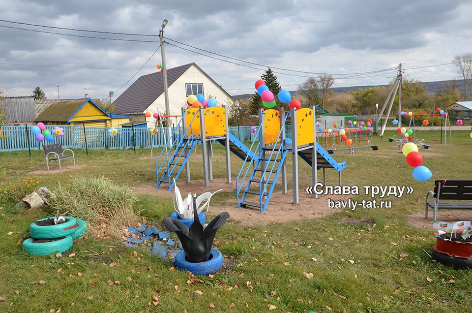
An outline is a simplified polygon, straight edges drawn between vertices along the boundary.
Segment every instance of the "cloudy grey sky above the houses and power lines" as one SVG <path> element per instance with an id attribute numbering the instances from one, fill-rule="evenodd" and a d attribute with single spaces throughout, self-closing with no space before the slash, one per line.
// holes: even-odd
<path id="1" fill-rule="evenodd" d="M 252 63 L 343 74 L 336 75 L 341 79 L 334 87 L 387 84 L 391 80 L 388 76 L 395 75 L 391 71 L 342 77 L 394 67 L 402 61 L 405 68 L 449 63 L 455 55 L 472 50 L 472 1 L 468 0 L 0 0 L 0 12 L 1 20 L 14 22 L 156 35 L 167 17 L 164 31 L 170 39 Z M 158 40 L 7 22 L 0 25 Z M 80 38 L 0 27 L 0 88 L 4 95 L 21 96 L 30 95 L 34 87 L 40 86 L 49 98 L 57 98 L 56 86 L 60 85 L 61 98 L 86 93 L 103 98 L 126 83 L 157 47 L 157 42 Z M 262 66 L 225 59 L 258 69 L 248 68 L 174 46 L 167 45 L 165 51 L 168 68 L 195 62 L 233 95 L 252 93 L 254 82 L 264 72 Z M 158 63 L 160 51 L 116 95 L 139 76 L 156 71 Z M 305 76 L 314 76 L 275 71 L 287 73 L 277 76 L 288 90 L 296 90 L 296 84 L 302 83 Z M 453 65 L 406 70 L 406 75 L 422 81 L 459 78 Z"/>

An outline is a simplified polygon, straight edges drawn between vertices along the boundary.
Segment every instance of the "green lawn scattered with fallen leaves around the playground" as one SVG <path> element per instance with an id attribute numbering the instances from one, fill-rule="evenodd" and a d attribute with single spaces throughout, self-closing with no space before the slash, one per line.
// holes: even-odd
<path id="1" fill-rule="evenodd" d="M 435 177 L 472 176 L 469 133 L 454 131 L 452 147 L 432 141 L 439 139 L 439 131 L 417 134 L 432 144 L 430 150 L 420 153 Z M 28 234 L 31 221 L 48 213 L 17 212 L 7 204 L 0 210 L 0 297 L 5 298 L 0 302 L 0 312 L 49 312 L 59 308 L 61 312 L 205 312 L 211 311 L 210 304 L 214 312 L 266 312 L 269 305 L 277 307 L 272 312 L 324 312 L 327 307 L 332 312 L 465 312 L 472 305 L 472 271 L 432 263 L 422 250 L 431 250 L 432 232 L 406 223 L 406 216 L 423 211 L 424 195 L 433 187 L 433 181 L 420 183 L 413 179 L 405 157 L 387 140 L 392 134 L 386 134 L 382 141 L 374 139 L 374 144 L 380 145 L 379 151 L 356 150 L 354 155 L 336 152 L 333 156 L 339 162 L 347 161 L 342 172 L 344 185 L 412 186 L 413 194 L 391 199 L 393 208 L 388 210 L 348 210 L 324 219 L 258 227 L 228 222 L 219 230 L 215 246 L 232 265 L 212 278 L 199 277 L 202 282 L 188 283 L 189 275 L 172 270 L 171 263 L 140 249 L 135 255 L 134 250 L 124 249 L 113 238 L 76 241 L 71 250 L 76 256 L 72 258 L 26 255 L 18 245 L 19 239 Z M 215 146 L 214 154 L 214 177 L 224 177 L 224 150 Z M 42 152 L 34 151 L 31 160 L 25 151 L 3 153 L 0 166 L 6 169 L 6 175 L 0 179 L 3 182 L 31 176 L 41 181 L 40 186 L 55 189 L 59 181 L 67 188 L 74 177 L 104 176 L 136 187 L 155 183 L 154 163 L 144 158 L 148 155 L 148 150 L 138 150 L 136 155 L 132 150 L 92 150 L 88 156 L 85 151 L 77 151 L 77 164 L 84 165 L 82 168 L 33 175 L 29 172 L 45 168 Z M 291 164 L 290 158 L 288 162 Z M 200 157 L 192 157 L 192 180 L 203 178 L 201 163 Z M 233 179 L 240 165 L 241 161 L 232 156 Z M 311 181 L 304 173 L 311 173 L 311 169 L 301 160 L 299 165 L 300 187 L 304 188 Z M 291 177 L 291 166 L 288 172 Z M 335 172 L 326 174 L 327 183 L 337 183 Z M 195 191 L 204 189 L 202 185 Z M 219 213 L 218 207 L 234 197 L 231 190 L 215 195 L 211 211 Z M 290 185 L 287 197 L 291 197 Z M 369 196 L 353 197 L 362 198 Z M 269 204 L 267 210 L 274 205 Z M 173 211 L 172 193 L 167 197 L 140 195 L 135 209 L 149 222 L 160 223 Z M 368 219 L 374 224 L 352 225 L 343 222 L 346 218 Z M 7 234 L 10 231 L 12 235 Z M 407 256 L 400 260 L 402 253 Z M 303 272 L 312 273 L 313 278 L 307 279 Z M 451 279 L 455 282 L 450 283 Z M 197 290 L 203 294 L 196 294 Z M 160 297 L 157 307 L 152 304 L 153 295 Z M 232 303 L 234 308 L 230 308 Z"/>

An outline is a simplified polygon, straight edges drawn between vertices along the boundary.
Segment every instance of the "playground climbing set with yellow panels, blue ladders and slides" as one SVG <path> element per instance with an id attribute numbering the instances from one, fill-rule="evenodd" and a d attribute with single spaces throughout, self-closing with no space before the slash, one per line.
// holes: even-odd
<path id="1" fill-rule="evenodd" d="M 292 139 L 286 138 L 284 131 L 289 116 L 291 117 Z M 339 184 L 341 184 L 340 172 L 346 167 L 346 162 L 337 163 L 321 145 L 315 142 L 318 136 L 314 108 L 299 110 L 292 108 L 290 115 L 283 110 L 260 110 L 259 119 L 255 139 L 248 148 L 228 132 L 226 107 L 182 109 L 182 117 L 174 131 L 180 131 L 180 128 L 183 130 L 178 144 L 174 151 L 166 152 L 163 149 L 155 163 L 156 188 L 165 184 L 171 191 L 175 186 L 174 179 L 177 180 L 184 168 L 186 181 L 190 182 L 188 159 L 199 143 L 202 144 L 204 184 L 208 187 L 209 182 L 213 180 L 212 143 L 215 141 L 225 146 L 227 183 L 231 183 L 232 180 L 230 153 L 243 160 L 236 179 L 237 207 L 253 206 L 259 208 L 261 212 L 266 211 L 279 175 L 282 176 L 282 192 L 287 193 L 286 156 L 289 152 L 292 153 L 295 204 L 299 203 L 297 156 L 312 166 L 313 185 L 318 182 L 317 170 L 319 169 L 323 169 L 325 183 L 326 168 L 333 168 L 338 172 Z M 175 137 L 175 134 L 171 136 L 171 138 Z M 256 141 L 258 141 L 257 144 Z M 161 159 L 164 152 L 166 155 Z M 247 199 L 251 195 L 257 195 L 257 202 Z"/>

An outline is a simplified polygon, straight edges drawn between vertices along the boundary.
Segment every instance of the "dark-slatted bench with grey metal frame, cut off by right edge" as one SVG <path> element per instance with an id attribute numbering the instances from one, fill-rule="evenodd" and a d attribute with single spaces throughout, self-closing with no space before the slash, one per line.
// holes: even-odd
<path id="1" fill-rule="evenodd" d="M 425 218 L 428 207 L 433 209 L 433 220 L 439 209 L 472 209 L 472 202 L 448 202 L 443 200 L 472 200 L 472 181 L 437 180 L 434 192 L 426 193 Z"/>

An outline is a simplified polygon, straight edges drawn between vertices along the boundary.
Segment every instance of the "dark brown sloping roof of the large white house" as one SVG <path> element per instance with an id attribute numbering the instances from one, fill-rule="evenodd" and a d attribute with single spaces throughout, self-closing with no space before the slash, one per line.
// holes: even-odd
<path id="1" fill-rule="evenodd" d="M 185 64 L 167 70 L 167 87 L 170 87 L 190 66 Z M 142 113 L 164 92 L 162 72 L 141 76 L 113 101 L 116 113 Z"/>

